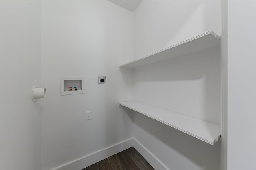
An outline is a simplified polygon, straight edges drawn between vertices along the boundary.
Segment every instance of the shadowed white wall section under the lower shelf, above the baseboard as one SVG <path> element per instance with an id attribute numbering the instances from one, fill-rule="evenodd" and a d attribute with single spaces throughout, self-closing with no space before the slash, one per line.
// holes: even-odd
<path id="1" fill-rule="evenodd" d="M 220 140 L 212 146 L 135 111 L 134 125 L 134 138 L 166 167 L 220 170 Z"/>

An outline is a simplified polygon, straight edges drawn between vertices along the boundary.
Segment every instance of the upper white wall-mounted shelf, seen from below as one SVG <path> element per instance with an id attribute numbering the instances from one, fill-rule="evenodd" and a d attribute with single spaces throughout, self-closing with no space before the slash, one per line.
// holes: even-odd
<path id="1" fill-rule="evenodd" d="M 146 64 L 163 61 L 173 57 L 183 56 L 197 51 L 202 51 L 214 47 L 220 47 L 220 37 L 213 31 L 207 31 L 196 37 L 172 45 L 166 49 L 162 49 L 140 59 L 136 59 L 126 64 L 122 64 L 120 68 L 136 68 Z"/>

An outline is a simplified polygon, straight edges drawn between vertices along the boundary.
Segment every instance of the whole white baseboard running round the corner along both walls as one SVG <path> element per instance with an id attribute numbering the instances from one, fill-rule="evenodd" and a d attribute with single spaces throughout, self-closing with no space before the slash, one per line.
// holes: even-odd
<path id="1" fill-rule="evenodd" d="M 117 143 L 116 145 L 112 145 L 106 149 L 99 150 L 78 160 L 74 160 L 54 168 L 53 170 L 82 170 L 85 167 L 95 164 L 130 147 L 134 147 L 136 150 L 138 150 L 138 152 L 150 163 L 154 169 L 168 170 L 168 168 L 166 168 L 153 154 L 151 154 L 141 143 L 139 143 L 134 138 Z"/>

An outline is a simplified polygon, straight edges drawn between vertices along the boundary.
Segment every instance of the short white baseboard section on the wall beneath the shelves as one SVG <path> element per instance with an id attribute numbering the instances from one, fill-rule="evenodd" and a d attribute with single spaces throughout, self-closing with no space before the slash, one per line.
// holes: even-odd
<path id="1" fill-rule="evenodd" d="M 148 161 L 155 170 L 169 170 L 158 158 L 149 152 L 140 142 L 133 138 L 133 147 Z"/>

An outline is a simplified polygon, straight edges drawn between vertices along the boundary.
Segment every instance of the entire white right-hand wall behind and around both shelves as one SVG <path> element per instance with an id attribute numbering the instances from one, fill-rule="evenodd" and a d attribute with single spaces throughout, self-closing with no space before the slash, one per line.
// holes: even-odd
<path id="1" fill-rule="evenodd" d="M 212 30 L 220 1 L 142 1 L 134 12 L 134 59 Z M 220 49 L 133 70 L 133 100 L 220 124 Z M 170 170 L 219 170 L 214 146 L 134 112 L 134 138 Z"/>

